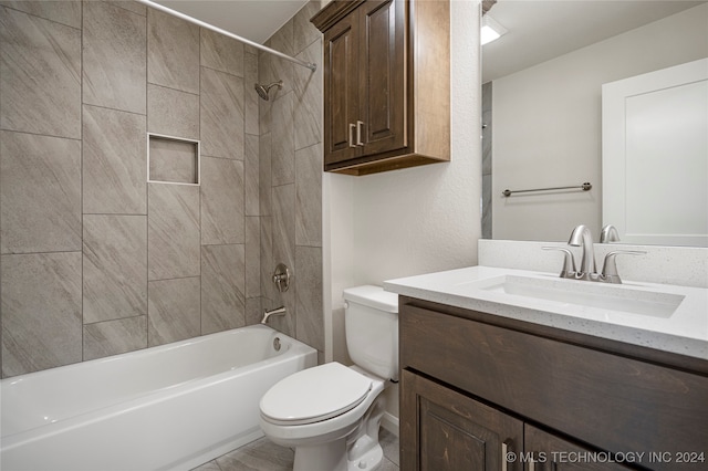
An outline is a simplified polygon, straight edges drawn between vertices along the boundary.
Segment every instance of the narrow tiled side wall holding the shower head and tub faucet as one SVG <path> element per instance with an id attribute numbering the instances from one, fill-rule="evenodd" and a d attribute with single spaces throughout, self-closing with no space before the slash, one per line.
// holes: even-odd
<path id="1" fill-rule="evenodd" d="M 288 315 L 273 324 L 323 354 L 322 34 L 310 23 L 320 6 L 306 3 L 266 42 L 317 70 L 260 52 L 261 83 L 282 80 L 283 86 L 258 102 L 263 307 L 284 305 Z M 293 271 L 294 286 L 285 293 L 270 281 L 279 262 Z"/>

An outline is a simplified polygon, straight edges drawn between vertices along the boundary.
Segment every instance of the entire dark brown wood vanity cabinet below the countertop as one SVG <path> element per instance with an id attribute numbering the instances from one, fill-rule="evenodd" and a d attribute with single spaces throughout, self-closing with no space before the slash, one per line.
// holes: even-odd
<path id="1" fill-rule="evenodd" d="M 402 296 L 400 469 L 708 469 L 708 362 Z"/>

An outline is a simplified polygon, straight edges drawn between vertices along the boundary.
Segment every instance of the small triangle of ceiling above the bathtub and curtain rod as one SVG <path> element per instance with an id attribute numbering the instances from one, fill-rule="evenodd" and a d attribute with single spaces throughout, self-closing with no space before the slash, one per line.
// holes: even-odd
<path id="1" fill-rule="evenodd" d="M 308 0 L 157 0 L 157 3 L 262 44 Z"/>

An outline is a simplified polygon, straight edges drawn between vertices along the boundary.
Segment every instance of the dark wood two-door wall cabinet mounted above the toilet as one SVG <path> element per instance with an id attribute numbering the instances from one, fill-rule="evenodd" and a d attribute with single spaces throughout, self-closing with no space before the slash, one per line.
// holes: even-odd
<path id="1" fill-rule="evenodd" d="M 324 169 L 366 175 L 450 159 L 449 1 L 332 1 Z"/>

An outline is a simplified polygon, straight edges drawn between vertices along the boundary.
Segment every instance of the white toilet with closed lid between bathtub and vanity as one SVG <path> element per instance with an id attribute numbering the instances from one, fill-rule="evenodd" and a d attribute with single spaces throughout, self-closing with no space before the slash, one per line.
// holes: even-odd
<path id="1" fill-rule="evenodd" d="M 344 290 L 353 366 L 333 362 L 295 373 L 263 395 L 260 425 L 294 448 L 294 471 L 375 470 L 383 459 L 382 391 L 398 380 L 398 296 L 379 286 Z"/>

